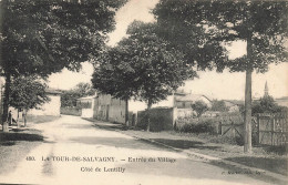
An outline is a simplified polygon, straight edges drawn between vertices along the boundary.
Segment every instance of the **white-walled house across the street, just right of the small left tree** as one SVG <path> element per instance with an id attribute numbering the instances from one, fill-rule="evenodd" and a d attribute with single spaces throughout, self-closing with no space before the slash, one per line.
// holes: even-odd
<path id="1" fill-rule="evenodd" d="M 47 95 L 50 97 L 40 109 L 32 109 L 28 111 L 28 115 L 53 115 L 60 116 L 61 106 L 61 91 L 54 89 L 47 89 Z"/>

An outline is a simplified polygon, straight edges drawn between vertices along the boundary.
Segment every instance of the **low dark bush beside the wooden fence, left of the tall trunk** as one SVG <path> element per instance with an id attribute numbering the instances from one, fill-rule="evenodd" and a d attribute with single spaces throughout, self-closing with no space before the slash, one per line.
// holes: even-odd
<path id="1" fill-rule="evenodd" d="M 179 132 L 184 133 L 216 133 L 216 127 L 212 120 L 198 121 L 197 123 L 185 123 L 178 129 Z"/>

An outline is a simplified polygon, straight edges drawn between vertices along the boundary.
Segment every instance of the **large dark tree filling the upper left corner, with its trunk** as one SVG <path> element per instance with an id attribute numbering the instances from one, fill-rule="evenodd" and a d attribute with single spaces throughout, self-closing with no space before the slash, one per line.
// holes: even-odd
<path id="1" fill-rule="evenodd" d="M 79 70 L 103 50 L 125 0 L 0 1 L 1 71 L 6 78 L 3 121 L 11 78 L 47 76 L 63 68 Z M 4 127 L 4 126 L 3 126 Z"/>

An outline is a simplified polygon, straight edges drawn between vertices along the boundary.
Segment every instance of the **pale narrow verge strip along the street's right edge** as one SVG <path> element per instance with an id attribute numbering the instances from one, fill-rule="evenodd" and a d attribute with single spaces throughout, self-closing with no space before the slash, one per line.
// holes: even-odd
<path id="1" fill-rule="evenodd" d="M 208 163 L 212 165 L 219 166 L 224 168 L 223 174 L 224 175 L 233 175 L 233 174 L 244 174 L 248 175 L 253 178 L 261 179 L 265 182 L 269 182 L 271 184 L 287 184 L 287 176 L 282 174 L 278 174 L 275 172 L 270 172 L 267 168 L 259 168 L 259 167 L 251 167 L 245 164 L 240 164 L 237 162 L 233 162 L 230 160 L 226 160 L 220 156 L 215 156 L 215 155 L 209 155 L 206 153 L 202 153 L 200 150 L 197 150 L 199 147 L 198 143 L 200 141 L 192 141 L 192 140 L 185 140 L 185 137 L 181 137 L 181 140 L 169 140 L 171 137 L 175 137 L 175 135 L 165 133 L 164 135 L 161 134 L 155 134 L 156 136 L 153 136 L 152 133 L 143 132 L 143 131 L 131 131 L 131 130 L 125 130 L 121 124 L 113 124 L 113 123 L 107 123 L 107 122 L 102 122 L 102 121 L 95 121 L 95 120 L 89 120 L 94 123 L 94 125 L 99 129 L 104 129 L 104 130 L 111 130 L 111 131 L 116 131 L 120 133 L 123 133 L 125 135 L 132 136 L 136 140 L 140 141 L 145 141 L 152 144 L 165 146 L 167 148 L 171 148 L 173 151 L 183 153 L 191 157 L 192 160 L 199 160 L 204 163 Z M 141 133 L 141 134 L 138 134 Z M 167 142 L 169 141 L 169 142 Z M 171 141 L 174 141 L 172 143 Z M 175 142 L 182 142 L 181 144 L 184 144 L 184 147 L 178 147 Z M 195 150 L 194 150 L 195 147 Z M 202 146 L 203 147 L 203 146 Z M 209 151 L 214 152 L 214 147 L 212 146 L 206 146 L 210 147 Z M 197 151 L 197 152 L 195 152 Z M 206 150 L 207 151 L 207 150 Z M 227 153 L 227 151 L 225 151 Z M 245 157 L 245 156 L 241 156 Z M 248 157 L 248 156 L 247 156 Z"/>

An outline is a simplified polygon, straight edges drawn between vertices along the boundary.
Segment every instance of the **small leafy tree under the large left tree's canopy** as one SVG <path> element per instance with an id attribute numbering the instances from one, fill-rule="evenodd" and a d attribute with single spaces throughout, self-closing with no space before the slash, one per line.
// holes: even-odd
<path id="1" fill-rule="evenodd" d="M 47 85 L 34 76 L 18 76 L 11 83 L 9 104 L 18 110 L 18 114 L 24 111 L 25 115 L 30 109 L 40 109 L 42 104 L 50 101 L 45 93 Z"/>

